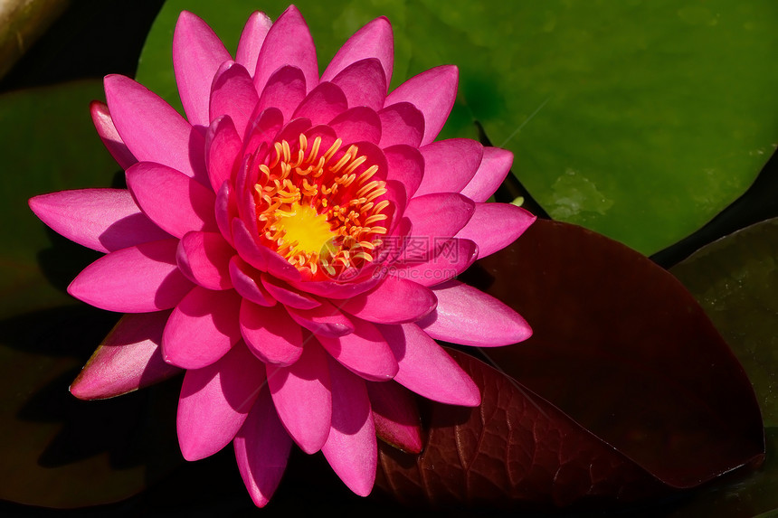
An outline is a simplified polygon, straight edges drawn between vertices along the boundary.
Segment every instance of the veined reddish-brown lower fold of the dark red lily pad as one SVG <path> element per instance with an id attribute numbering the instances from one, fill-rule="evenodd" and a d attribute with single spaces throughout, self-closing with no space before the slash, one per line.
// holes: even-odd
<path id="1" fill-rule="evenodd" d="M 381 444 L 376 484 L 404 504 L 561 507 L 668 493 L 548 401 L 458 351 L 479 385 L 475 409 L 433 403 L 419 456 Z"/>

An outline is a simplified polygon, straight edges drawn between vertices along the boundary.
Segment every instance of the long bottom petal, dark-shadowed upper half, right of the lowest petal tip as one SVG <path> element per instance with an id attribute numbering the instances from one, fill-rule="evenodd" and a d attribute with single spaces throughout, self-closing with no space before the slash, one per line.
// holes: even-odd
<path id="1" fill-rule="evenodd" d="M 321 448 L 337 476 L 360 496 L 375 482 L 378 446 L 365 381 L 329 361 L 332 382 L 332 429 Z"/>

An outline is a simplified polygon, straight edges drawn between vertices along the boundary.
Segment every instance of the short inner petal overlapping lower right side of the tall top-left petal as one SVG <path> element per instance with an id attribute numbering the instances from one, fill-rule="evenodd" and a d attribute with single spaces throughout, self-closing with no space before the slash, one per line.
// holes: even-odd
<path id="1" fill-rule="evenodd" d="M 209 124 L 229 115 L 238 135 L 244 135 L 259 99 L 249 72 L 233 61 L 225 61 L 213 78 Z"/>

